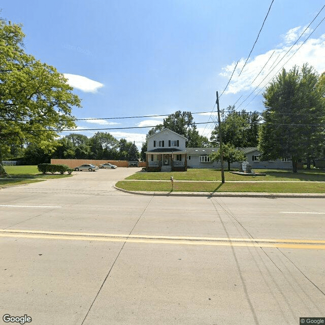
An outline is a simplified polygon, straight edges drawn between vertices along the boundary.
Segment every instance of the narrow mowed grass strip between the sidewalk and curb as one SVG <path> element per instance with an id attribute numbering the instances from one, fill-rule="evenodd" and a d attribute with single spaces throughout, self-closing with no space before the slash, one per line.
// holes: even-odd
<path id="1" fill-rule="evenodd" d="M 170 192 L 170 182 L 119 181 L 116 186 L 130 191 Z M 174 182 L 175 192 L 268 192 L 268 193 L 324 193 L 325 183 L 321 182 Z"/>

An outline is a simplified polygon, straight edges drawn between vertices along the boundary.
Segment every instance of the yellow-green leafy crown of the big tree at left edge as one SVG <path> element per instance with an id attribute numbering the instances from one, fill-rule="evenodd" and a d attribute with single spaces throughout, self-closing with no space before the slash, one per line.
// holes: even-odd
<path id="1" fill-rule="evenodd" d="M 67 79 L 26 54 L 23 39 L 21 25 L 0 19 L 0 158 L 26 143 L 52 151 L 58 131 L 75 126 L 72 108 L 80 107 Z"/>

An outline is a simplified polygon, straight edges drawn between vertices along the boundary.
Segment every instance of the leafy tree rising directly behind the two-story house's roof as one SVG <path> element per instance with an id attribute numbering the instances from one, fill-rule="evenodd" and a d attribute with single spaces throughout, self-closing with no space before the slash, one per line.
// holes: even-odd
<path id="1" fill-rule="evenodd" d="M 163 124 L 159 124 L 148 132 L 147 136 L 152 136 L 163 128 L 169 128 L 171 131 L 178 133 L 186 138 L 186 147 L 207 147 L 209 140 L 207 137 L 199 135 L 197 126 L 191 112 L 176 111 L 164 118 Z"/>

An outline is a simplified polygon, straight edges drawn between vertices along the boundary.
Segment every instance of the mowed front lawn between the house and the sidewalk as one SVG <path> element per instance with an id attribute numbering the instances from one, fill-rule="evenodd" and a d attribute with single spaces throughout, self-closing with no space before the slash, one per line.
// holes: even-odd
<path id="1" fill-rule="evenodd" d="M 325 181 L 325 171 L 321 170 L 300 170 L 293 173 L 288 170 L 256 169 L 256 173 L 265 173 L 266 176 L 244 176 L 224 171 L 224 178 L 227 181 Z M 135 173 L 125 179 L 157 179 L 169 180 L 174 176 L 175 180 L 197 180 L 197 181 L 221 181 L 221 170 L 219 169 L 188 169 L 187 172 L 169 173 Z"/>

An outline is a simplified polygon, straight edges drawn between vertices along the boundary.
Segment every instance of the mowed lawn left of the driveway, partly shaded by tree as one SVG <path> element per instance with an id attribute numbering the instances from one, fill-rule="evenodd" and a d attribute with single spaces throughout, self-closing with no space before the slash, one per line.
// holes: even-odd
<path id="1" fill-rule="evenodd" d="M 40 182 L 48 178 L 71 177 L 69 174 L 43 174 L 37 166 L 4 166 L 7 176 L 0 177 L 0 186 L 21 185 Z"/>

